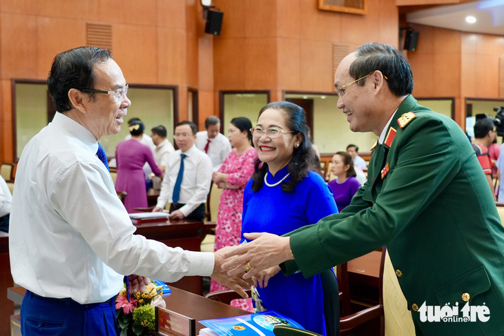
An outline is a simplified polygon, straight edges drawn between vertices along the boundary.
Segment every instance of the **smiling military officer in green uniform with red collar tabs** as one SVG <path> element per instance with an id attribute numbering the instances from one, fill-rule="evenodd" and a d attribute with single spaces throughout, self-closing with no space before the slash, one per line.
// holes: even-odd
<path id="1" fill-rule="evenodd" d="M 367 182 L 318 224 L 287 237 L 246 235 L 255 241 L 226 253 L 238 257 L 223 268 L 251 277 L 280 264 L 311 277 L 387 246 L 416 335 L 503 335 L 504 227 L 461 128 L 416 103 L 409 63 L 392 46 L 357 48 L 335 87 L 350 129 L 378 136 Z M 449 306 L 441 311 L 452 319 L 434 318 L 436 306 Z"/>

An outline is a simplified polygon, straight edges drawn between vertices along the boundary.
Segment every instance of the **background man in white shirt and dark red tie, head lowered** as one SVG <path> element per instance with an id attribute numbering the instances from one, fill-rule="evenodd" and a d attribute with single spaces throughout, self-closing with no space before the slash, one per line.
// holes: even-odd
<path id="1" fill-rule="evenodd" d="M 196 147 L 209 155 L 212 159 L 213 171 L 216 172 L 231 152 L 231 143 L 219 132 L 220 119 L 214 115 L 206 118 L 205 128 L 206 130 L 196 134 Z"/>

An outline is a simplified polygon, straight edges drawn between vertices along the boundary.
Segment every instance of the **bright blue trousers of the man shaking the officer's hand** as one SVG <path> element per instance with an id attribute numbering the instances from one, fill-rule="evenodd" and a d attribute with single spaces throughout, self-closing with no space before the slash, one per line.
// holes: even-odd
<path id="1" fill-rule="evenodd" d="M 115 297 L 102 304 L 40 297 L 26 290 L 21 305 L 21 335 L 117 336 Z"/>

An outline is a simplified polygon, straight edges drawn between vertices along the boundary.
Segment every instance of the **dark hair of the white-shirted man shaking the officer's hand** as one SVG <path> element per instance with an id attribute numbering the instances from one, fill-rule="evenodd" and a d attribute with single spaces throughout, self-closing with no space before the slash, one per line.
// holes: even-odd
<path id="1" fill-rule="evenodd" d="M 60 52 L 52 61 L 47 79 L 50 97 L 58 112 L 67 112 L 74 106 L 68 99 L 71 88 L 95 88 L 95 63 L 105 63 L 112 58 L 106 49 L 96 47 L 79 47 Z M 95 99 L 93 92 L 85 92 L 90 99 Z"/>

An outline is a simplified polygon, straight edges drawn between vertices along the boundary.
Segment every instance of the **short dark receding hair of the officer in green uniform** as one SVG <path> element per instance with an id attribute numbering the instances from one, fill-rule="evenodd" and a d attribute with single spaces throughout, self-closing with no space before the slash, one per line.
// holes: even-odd
<path id="1" fill-rule="evenodd" d="M 388 44 L 370 42 L 358 47 L 355 51 L 357 59 L 351 63 L 350 76 L 359 79 L 380 70 L 387 76 L 389 90 L 396 97 L 408 95 L 413 91 L 413 73 L 403 52 Z M 356 83 L 365 84 L 365 79 Z"/>

